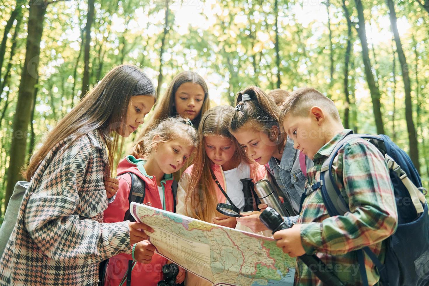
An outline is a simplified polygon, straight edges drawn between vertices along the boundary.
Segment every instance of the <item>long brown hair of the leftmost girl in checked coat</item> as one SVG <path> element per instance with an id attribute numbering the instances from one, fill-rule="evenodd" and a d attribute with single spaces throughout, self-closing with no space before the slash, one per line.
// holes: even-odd
<path id="1" fill-rule="evenodd" d="M 147 75 L 132 65 L 121 65 L 110 70 L 48 133 L 42 147 L 31 157 L 27 170 L 23 172 L 24 178 L 31 180 L 42 160 L 58 142 L 72 136 L 71 145 L 95 129 L 100 131 L 109 150 L 109 167 L 112 170 L 122 149 L 122 136 L 116 130 L 127 122 L 128 105 L 131 96 L 135 95 L 154 96 L 156 101 L 155 87 Z"/>

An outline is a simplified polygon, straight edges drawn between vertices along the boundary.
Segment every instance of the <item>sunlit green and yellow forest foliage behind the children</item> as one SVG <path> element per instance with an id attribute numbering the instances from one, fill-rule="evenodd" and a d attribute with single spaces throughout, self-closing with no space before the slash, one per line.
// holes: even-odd
<path id="1" fill-rule="evenodd" d="M 275 88 L 279 70 L 282 88 L 293 90 L 306 85 L 315 87 L 332 98 L 340 114 L 343 114 L 347 107 L 343 87 L 347 21 L 341 6 L 342 0 L 329 2 L 334 51 L 333 82 L 330 82 L 329 72 L 330 43 L 326 6 L 318 1 L 305 1 L 302 4 L 302 1 L 297 0 L 279 0 L 277 31 L 274 29 L 274 0 L 169 1 L 169 22 L 172 24 L 164 44 L 164 53 L 160 55 L 165 1 L 97 0 L 91 32 L 90 87 L 120 63 L 144 67 L 156 84 L 162 56 L 164 64 L 161 93 L 178 72 L 192 69 L 208 82 L 212 105 L 233 104 L 235 94 L 248 85 L 255 84 L 264 90 Z M 350 19 L 356 25 L 354 1 L 348 0 L 346 4 Z M 0 35 L 3 35 L 14 5 L 15 0 L 4 0 L 0 4 Z M 428 187 L 429 17 L 417 1 L 395 0 L 395 5 L 411 78 L 413 118 L 422 166 L 420 172 Z M 56 120 L 79 101 L 84 69 L 82 29 L 86 23 L 86 11 L 86 1 L 81 0 L 57 1 L 47 8 L 32 122 L 36 149 Z M 390 34 L 388 9 L 384 0 L 373 0 L 365 3 L 364 13 L 373 73 L 381 92 L 384 127 L 387 135 L 395 138 L 396 143 L 408 151 L 404 85 L 397 58 L 393 77 L 393 51 L 396 47 Z M 0 214 L 4 212 L 3 193 L 9 164 L 12 120 L 14 116 L 19 116 L 15 114 L 15 105 L 25 58 L 28 6 L 23 9 L 23 15 L 16 54 L 12 58 L 10 81 L 0 98 L 0 115 L 6 99 L 9 102 L 0 122 Z M 9 63 L 12 45 L 10 39 L 14 27 L 7 35 L 2 76 Z M 276 66 L 275 61 L 276 33 L 279 36 L 280 66 Z M 359 132 L 374 134 L 376 129 L 372 103 L 355 27 L 352 27 L 351 42 L 350 126 L 356 126 Z M 134 136 L 131 137 L 126 141 L 125 151 L 132 146 Z"/>

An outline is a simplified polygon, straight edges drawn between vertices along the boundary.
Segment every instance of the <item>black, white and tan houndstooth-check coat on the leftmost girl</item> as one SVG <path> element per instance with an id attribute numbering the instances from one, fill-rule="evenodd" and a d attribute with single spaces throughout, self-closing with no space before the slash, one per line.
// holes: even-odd
<path id="1" fill-rule="evenodd" d="M 48 153 L 30 182 L 0 285 L 97 285 L 101 261 L 130 253 L 128 222 L 103 223 L 109 168 L 100 132 L 71 140 Z"/>

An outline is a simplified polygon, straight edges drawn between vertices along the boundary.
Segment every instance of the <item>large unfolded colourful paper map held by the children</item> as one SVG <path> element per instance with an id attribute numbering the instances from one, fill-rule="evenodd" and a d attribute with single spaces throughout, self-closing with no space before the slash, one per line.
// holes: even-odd
<path id="1" fill-rule="evenodd" d="M 292 286 L 296 259 L 273 238 L 131 203 L 157 253 L 215 285 Z"/>

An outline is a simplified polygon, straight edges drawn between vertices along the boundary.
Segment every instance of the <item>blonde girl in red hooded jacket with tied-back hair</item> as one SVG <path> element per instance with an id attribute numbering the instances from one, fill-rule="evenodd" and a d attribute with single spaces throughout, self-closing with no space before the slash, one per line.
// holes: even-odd
<path id="1" fill-rule="evenodd" d="M 196 130 L 190 120 L 183 118 L 167 118 L 142 138 L 141 159 L 129 155 L 122 160 L 117 169 L 119 190 L 114 201 L 104 211 L 104 221 L 113 223 L 124 220 L 130 208 L 131 176 L 133 173 L 145 182 L 145 198 L 143 203 L 151 203 L 152 207 L 166 211 L 174 210 L 172 194 L 172 173 L 179 170 L 190 157 L 197 142 Z M 109 259 L 106 267 L 104 285 L 127 285 L 128 261 L 135 261 L 131 271 L 131 286 L 156 286 L 163 280 L 162 267 L 169 261 L 158 254 L 151 259 L 147 253 L 154 251 L 148 241 L 134 244 L 132 254 L 119 254 Z M 184 280 L 184 270 L 180 268 L 177 283 Z"/>

